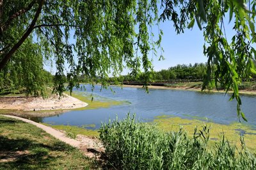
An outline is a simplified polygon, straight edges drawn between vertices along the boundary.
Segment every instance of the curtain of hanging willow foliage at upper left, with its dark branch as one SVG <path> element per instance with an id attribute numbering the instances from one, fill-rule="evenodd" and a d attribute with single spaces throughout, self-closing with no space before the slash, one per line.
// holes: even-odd
<path id="1" fill-rule="evenodd" d="M 25 50 L 29 46 L 27 41 L 40 49 L 36 56 L 55 61 L 54 92 L 63 93 L 66 72 L 70 91 L 77 86 L 79 75 L 86 77 L 88 82 L 100 78 L 102 86 L 108 86 L 108 76 L 118 77 L 124 65 L 135 77 L 143 68 L 145 83 L 152 77 L 148 52 L 156 52 L 161 42 L 156 40 L 154 43 L 154 34 L 150 31 L 158 23 L 156 0 L 3 1 L 0 10 L 0 69 L 13 47 L 16 49 L 12 58 L 14 55 L 20 58 L 31 56 L 30 50 Z M 38 18 L 35 18 L 35 12 L 40 13 Z M 36 19 L 34 26 L 33 19 Z M 24 33 L 29 36 L 17 48 L 15 45 L 23 41 Z M 18 49 L 24 56 L 17 52 Z M 35 56 L 31 58 L 37 59 Z M 34 60 L 26 62 L 33 65 Z M 40 59 L 36 61 L 42 64 Z M 18 73 L 15 66 L 13 63 L 13 72 Z"/>

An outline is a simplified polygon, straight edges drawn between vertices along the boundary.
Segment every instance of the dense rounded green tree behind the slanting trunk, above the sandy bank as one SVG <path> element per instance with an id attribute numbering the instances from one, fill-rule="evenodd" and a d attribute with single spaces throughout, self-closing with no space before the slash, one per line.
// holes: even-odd
<path id="1" fill-rule="evenodd" d="M 38 45 L 31 43 L 31 39 L 26 40 L 1 70 L 0 91 L 9 89 L 10 92 L 15 92 L 24 89 L 26 95 L 45 96 L 46 87 L 52 82 L 52 75 L 43 69 L 43 60 Z"/>

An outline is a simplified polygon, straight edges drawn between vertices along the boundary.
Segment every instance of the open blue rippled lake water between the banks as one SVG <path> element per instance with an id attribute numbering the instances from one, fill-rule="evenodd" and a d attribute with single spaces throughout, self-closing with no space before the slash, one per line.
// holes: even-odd
<path id="1" fill-rule="evenodd" d="M 90 86 L 86 85 L 90 91 Z M 136 116 L 143 121 L 152 121 L 155 116 L 172 115 L 180 118 L 207 118 L 207 121 L 229 124 L 238 121 L 236 114 L 236 100 L 228 101 L 230 95 L 224 93 L 206 93 L 198 91 L 182 91 L 172 89 L 150 89 L 146 93 L 141 88 L 111 87 L 111 90 L 95 86 L 93 95 L 95 99 L 109 98 L 112 100 L 127 101 L 122 105 L 115 105 L 109 108 L 100 108 L 84 111 L 69 111 L 58 116 L 43 118 L 45 123 L 54 125 L 76 125 L 83 126 L 108 122 L 116 118 L 125 118 L 128 112 L 136 113 Z M 80 91 L 74 89 L 74 91 Z M 79 92 L 88 95 L 88 92 Z M 242 110 L 246 114 L 248 124 L 256 125 L 256 97 L 243 95 Z M 103 100 L 103 99 L 102 99 Z M 243 120 L 241 120 L 243 121 Z"/>

